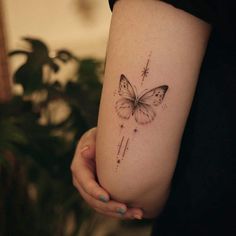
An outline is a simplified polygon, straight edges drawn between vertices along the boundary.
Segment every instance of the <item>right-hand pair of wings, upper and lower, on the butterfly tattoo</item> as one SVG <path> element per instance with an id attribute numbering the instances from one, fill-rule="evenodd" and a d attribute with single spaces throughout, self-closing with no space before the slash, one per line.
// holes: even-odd
<path id="1" fill-rule="evenodd" d="M 138 124 L 148 124 L 154 120 L 156 117 L 154 106 L 162 103 L 167 90 L 168 86 L 162 85 L 149 90 L 138 99 L 134 110 L 134 118 Z"/>

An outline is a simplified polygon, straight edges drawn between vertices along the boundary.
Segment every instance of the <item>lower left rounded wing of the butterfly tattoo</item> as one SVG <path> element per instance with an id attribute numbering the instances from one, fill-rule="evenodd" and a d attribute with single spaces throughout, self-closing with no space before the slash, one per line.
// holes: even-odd
<path id="1" fill-rule="evenodd" d="M 121 98 L 116 102 L 116 113 L 122 118 L 128 120 L 134 110 L 134 102 L 127 98 Z"/>

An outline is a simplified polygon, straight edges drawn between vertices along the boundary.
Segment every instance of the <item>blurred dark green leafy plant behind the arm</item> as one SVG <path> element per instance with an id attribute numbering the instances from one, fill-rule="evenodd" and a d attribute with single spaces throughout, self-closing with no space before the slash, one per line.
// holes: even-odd
<path id="1" fill-rule="evenodd" d="M 76 235 L 90 211 L 72 186 L 70 163 L 77 140 L 97 122 L 103 63 L 67 50 L 52 58 L 44 42 L 24 40 L 30 52 L 9 54 L 26 57 L 13 76 L 23 93 L 0 104 L 0 235 Z M 75 80 L 45 79 L 45 67 L 56 76 L 72 61 Z"/>

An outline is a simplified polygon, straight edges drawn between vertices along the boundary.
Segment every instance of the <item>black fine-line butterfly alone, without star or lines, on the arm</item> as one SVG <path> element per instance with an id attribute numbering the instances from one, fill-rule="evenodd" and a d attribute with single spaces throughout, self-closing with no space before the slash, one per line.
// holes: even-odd
<path id="1" fill-rule="evenodd" d="M 137 95 L 136 88 L 122 74 L 118 89 L 121 98 L 115 104 L 116 113 L 122 119 L 133 116 L 138 124 L 148 124 L 155 119 L 155 109 L 162 103 L 167 90 L 168 86 L 162 85 Z"/>

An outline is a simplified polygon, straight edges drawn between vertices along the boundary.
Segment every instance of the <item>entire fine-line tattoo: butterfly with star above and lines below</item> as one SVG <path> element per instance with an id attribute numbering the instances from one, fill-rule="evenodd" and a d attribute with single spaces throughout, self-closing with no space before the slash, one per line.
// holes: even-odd
<path id="1" fill-rule="evenodd" d="M 150 56 L 151 54 L 141 73 L 140 87 L 149 74 Z M 150 124 L 156 118 L 157 107 L 163 102 L 168 88 L 167 85 L 161 85 L 138 93 L 135 85 L 132 85 L 124 74 L 120 75 L 117 91 L 119 98 L 115 102 L 115 111 L 123 122 L 130 119 L 135 121 L 136 125 L 131 129 L 133 137 L 138 134 L 138 127 Z M 121 139 L 117 149 L 117 168 L 129 150 L 130 137 L 122 134 L 124 130 L 127 133 L 127 127 L 124 123 L 120 124 Z"/>

